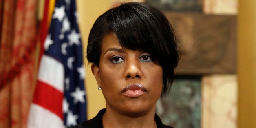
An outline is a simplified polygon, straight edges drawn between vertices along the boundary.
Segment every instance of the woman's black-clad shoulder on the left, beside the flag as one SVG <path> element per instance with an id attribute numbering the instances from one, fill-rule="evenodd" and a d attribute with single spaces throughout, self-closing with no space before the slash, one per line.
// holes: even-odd
<path id="1" fill-rule="evenodd" d="M 71 126 L 69 128 L 103 128 L 102 116 L 104 115 L 105 112 L 106 112 L 106 109 L 102 109 L 93 119 L 84 121 L 81 124 L 78 124 L 76 126 Z"/>

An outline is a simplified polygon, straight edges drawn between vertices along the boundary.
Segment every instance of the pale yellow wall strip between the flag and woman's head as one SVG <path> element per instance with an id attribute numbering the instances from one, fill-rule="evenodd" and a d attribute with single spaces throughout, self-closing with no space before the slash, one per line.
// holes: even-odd
<path id="1" fill-rule="evenodd" d="M 106 108 L 102 92 L 97 89 L 95 77 L 91 73 L 90 64 L 86 60 L 86 47 L 88 35 L 95 20 L 110 8 L 109 0 L 77 0 L 79 12 L 79 27 L 82 34 L 84 64 L 86 68 L 86 97 L 87 116 L 91 119 L 97 115 L 100 109 Z"/>

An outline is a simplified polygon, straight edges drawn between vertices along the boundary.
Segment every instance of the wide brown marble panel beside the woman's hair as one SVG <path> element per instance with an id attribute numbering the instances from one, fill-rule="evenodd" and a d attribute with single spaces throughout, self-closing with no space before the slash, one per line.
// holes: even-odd
<path id="1" fill-rule="evenodd" d="M 236 73 L 236 16 L 166 12 L 178 35 L 181 75 Z"/>

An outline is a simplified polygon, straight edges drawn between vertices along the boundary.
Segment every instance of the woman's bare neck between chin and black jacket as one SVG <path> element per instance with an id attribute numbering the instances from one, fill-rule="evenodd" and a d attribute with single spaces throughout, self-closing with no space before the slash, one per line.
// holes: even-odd
<path id="1" fill-rule="evenodd" d="M 154 115 L 155 106 L 148 113 L 138 116 L 125 115 L 107 106 L 102 124 L 104 128 L 157 128 Z"/>

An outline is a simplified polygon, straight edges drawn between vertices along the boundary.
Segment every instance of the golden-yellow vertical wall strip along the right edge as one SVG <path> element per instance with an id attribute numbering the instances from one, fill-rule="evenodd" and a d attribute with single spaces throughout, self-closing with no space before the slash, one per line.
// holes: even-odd
<path id="1" fill-rule="evenodd" d="M 256 0 L 239 0 L 238 127 L 256 128 Z"/>

